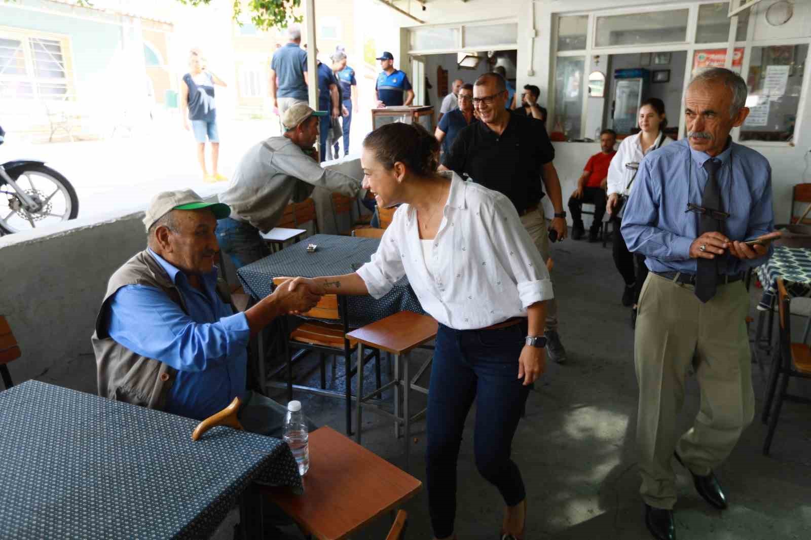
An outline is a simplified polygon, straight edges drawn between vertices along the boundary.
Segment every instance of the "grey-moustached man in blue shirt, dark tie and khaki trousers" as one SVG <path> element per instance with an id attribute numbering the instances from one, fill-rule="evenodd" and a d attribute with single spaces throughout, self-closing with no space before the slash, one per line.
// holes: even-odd
<path id="1" fill-rule="evenodd" d="M 754 414 L 742 280 L 771 247 L 743 241 L 770 233 L 775 221 L 769 162 L 729 136 L 749 114 L 746 95 L 740 75 L 720 67 L 693 78 L 684 96 L 688 139 L 642 160 L 622 221 L 629 250 L 650 269 L 634 358 L 640 491 L 655 538 L 676 535 L 674 457 L 709 504 L 727 508 L 712 471 Z M 701 410 L 681 434 L 676 416 L 691 365 Z"/>

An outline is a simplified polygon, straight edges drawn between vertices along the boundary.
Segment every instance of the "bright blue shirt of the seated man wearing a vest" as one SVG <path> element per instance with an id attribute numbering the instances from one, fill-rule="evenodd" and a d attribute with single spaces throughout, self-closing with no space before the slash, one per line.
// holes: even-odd
<path id="1" fill-rule="evenodd" d="M 160 289 L 126 285 L 109 302 L 109 336 L 135 353 L 178 370 L 166 411 L 204 419 L 244 398 L 247 344 L 245 314 L 234 315 L 217 294 L 217 271 L 202 276 L 203 290 L 149 250 L 177 286 L 189 314 Z"/>

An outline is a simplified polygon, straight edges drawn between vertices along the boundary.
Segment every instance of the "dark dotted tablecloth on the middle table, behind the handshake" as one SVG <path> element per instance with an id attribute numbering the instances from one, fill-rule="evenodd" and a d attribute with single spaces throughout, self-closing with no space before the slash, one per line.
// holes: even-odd
<path id="1" fill-rule="evenodd" d="M 307 251 L 307 244 L 316 244 L 318 249 L 310 253 Z M 271 294 L 274 277 L 348 274 L 359 268 L 359 265 L 367 263 L 379 245 L 380 240 L 377 238 L 315 234 L 264 259 L 239 268 L 237 274 L 245 291 L 253 298 L 262 299 Z M 397 281 L 393 289 L 379 300 L 371 296 L 350 296 L 347 298 L 347 309 L 350 312 L 350 326 L 354 328 L 400 311 L 425 313 L 406 277 Z"/>

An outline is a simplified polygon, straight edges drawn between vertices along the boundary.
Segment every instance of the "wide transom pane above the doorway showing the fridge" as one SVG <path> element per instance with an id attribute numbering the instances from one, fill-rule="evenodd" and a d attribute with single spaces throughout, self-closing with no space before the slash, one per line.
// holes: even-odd
<path id="1" fill-rule="evenodd" d="M 648 11 L 597 18 L 596 46 L 687 41 L 689 10 Z"/>

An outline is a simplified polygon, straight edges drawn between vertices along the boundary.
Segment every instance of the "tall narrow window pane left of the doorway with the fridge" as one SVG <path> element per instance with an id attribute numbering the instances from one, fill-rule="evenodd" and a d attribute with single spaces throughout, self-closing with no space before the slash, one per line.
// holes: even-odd
<path id="1" fill-rule="evenodd" d="M 585 65 L 586 57 L 569 56 L 558 58 L 555 69 L 556 122 L 552 131 L 563 131 L 569 139 L 581 136 Z"/>

